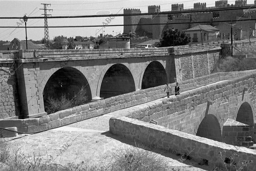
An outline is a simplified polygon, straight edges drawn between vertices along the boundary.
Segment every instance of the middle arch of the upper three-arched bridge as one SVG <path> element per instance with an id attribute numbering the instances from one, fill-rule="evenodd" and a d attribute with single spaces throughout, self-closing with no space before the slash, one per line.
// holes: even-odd
<path id="1" fill-rule="evenodd" d="M 97 86 L 97 96 L 108 98 L 135 91 L 133 74 L 126 64 L 117 63 L 103 71 Z"/>

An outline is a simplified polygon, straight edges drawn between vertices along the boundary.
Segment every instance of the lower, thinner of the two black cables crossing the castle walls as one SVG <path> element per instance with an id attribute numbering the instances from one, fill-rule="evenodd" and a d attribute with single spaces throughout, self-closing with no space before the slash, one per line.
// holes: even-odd
<path id="1" fill-rule="evenodd" d="M 256 18 L 252 19 L 242 19 L 238 21 L 254 21 Z M 220 20 L 220 21 L 194 21 L 194 22 L 180 22 L 180 23 L 150 23 L 150 24 L 113 24 L 113 25 L 55 25 L 48 26 L 48 28 L 82 28 L 82 27 L 113 27 L 113 26 L 129 26 L 129 25 L 171 25 L 171 24 L 192 24 L 192 23 L 219 23 L 219 22 L 230 22 L 233 20 Z M 0 26 L 0 28 L 17 28 L 13 26 Z M 25 28 L 25 27 L 18 27 Z M 45 28 L 45 26 L 29 26 L 27 28 Z"/>

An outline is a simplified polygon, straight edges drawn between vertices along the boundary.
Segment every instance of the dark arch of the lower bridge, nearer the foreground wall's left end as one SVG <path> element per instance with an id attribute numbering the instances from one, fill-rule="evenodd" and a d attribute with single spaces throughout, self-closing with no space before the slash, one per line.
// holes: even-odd
<path id="1" fill-rule="evenodd" d="M 218 118 L 213 114 L 207 114 L 201 121 L 196 135 L 222 142 L 222 134 Z"/>

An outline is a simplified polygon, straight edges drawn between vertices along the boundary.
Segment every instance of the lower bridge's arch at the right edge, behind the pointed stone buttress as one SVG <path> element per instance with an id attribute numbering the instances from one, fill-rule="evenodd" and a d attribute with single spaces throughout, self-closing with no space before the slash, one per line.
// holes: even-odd
<path id="1" fill-rule="evenodd" d="M 251 105 L 243 102 L 237 111 L 236 121 L 249 125 L 250 136 L 254 137 L 254 114 Z"/>

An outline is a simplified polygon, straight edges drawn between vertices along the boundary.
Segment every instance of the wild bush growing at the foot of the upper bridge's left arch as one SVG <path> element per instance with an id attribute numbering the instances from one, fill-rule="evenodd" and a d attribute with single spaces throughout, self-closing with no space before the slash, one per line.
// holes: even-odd
<path id="1" fill-rule="evenodd" d="M 45 111 L 50 114 L 88 103 L 88 97 L 86 96 L 84 87 L 82 87 L 78 94 L 76 94 L 72 99 L 69 99 L 66 96 L 67 95 L 62 95 L 59 98 L 48 97 L 45 104 Z"/>

